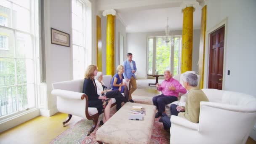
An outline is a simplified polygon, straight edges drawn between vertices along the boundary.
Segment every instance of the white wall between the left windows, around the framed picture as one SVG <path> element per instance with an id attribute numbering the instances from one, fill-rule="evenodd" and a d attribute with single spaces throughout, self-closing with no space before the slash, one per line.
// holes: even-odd
<path id="1" fill-rule="evenodd" d="M 49 0 L 50 27 L 68 34 L 71 33 L 71 2 L 70 0 Z M 46 31 L 50 28 L 45 27 Z M 48 35 L 47 35 L 48 34 Z M 51 37 L 47 33 L 45 37 Z M 51 33 L 50 33 L 51 34 Z M 72 37 L 70 37 L 72 41 Z M 56 96 L 51 95 L 51 83 L 72 79 L 72 51 L 70 47 L 49 44 L 45 41 L 46 83 L 48 109 L 56 107 Z M 72 43 L 70 43 L 72 45 Z"/>

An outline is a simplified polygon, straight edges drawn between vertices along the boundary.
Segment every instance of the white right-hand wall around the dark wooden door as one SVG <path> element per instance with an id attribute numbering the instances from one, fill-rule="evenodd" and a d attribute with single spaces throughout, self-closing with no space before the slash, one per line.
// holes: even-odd
<path id="1" fill-rule="evenodd" d="M 223 90 L 256 96 L 256 0 L 209 0 L 206 32 L 227 18 Z M 216 11 L 216 8 L 218 11 Z M 207 34 L 206 33 L 206 34 Z M 206 40 L 205 74 L 208 73 L 208 43 Z M 230 75 L 227 75 L 230 70 Z M 207 87 L 207 75 L 204 87 Z M 256 126 L 251 137 L 256 140 Z"/>

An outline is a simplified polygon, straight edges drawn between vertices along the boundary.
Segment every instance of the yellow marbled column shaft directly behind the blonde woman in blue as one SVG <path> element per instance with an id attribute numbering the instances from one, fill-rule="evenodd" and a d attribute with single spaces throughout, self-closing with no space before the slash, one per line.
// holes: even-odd
<path id="1" fill-rule="evenodd" d="M 115 16 L 107 15 L 106 74 L 115 74 Z"/>

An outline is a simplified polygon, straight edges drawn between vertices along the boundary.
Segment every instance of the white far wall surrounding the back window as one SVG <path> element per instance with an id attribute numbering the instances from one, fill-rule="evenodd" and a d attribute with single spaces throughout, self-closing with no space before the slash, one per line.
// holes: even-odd
<path id="1" fill-rule="evenodd" d="M 172 31 L 172 35 L 181 35 L 182 31 Z M 140 32 L 127 33 L 127 52 L 133 54 L 133 60 L 136 61 L 137 77 L 147 77 L 147 37 L 163 36 L 165 32 Z M 193 31 L 193 60 L 192 70 L 198 71 L 197 62 L 199 59 L 200 30 Z"/>

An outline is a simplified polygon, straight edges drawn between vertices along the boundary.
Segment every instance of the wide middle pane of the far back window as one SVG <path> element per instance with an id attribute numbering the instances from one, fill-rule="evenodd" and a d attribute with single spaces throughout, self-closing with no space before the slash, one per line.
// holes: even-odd
<path id="1" fill-rule="evenodd" d="M 162 37 L 156 40 L 156 73 L 163 75 L 165 69 L 170 70 L 171 45 L 164 43 Z"/>

